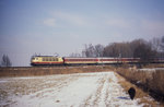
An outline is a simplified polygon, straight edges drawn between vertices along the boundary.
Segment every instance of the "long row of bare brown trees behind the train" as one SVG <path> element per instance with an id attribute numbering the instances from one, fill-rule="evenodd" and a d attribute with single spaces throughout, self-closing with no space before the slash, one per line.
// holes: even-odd
<path id="1" fill-rule="evenodd" d="M 73 54 L 71 57 L 79 56 L 80 54 Z M 112 43 L 107 46 L 89 44 L 84 46 L 82 57 L 140 58 L 141 60 L 164 58 L 164 36 L 155 37 L 150 41 L 134 39 L 132 41 Z"/>

